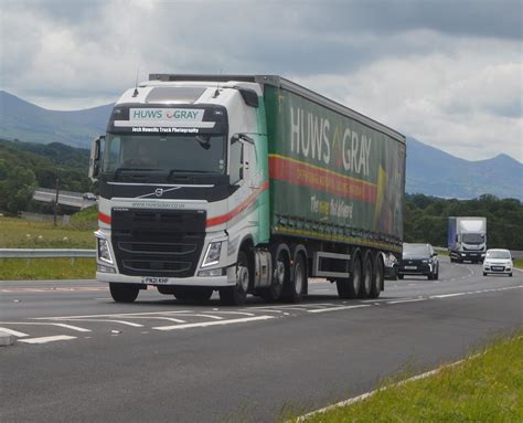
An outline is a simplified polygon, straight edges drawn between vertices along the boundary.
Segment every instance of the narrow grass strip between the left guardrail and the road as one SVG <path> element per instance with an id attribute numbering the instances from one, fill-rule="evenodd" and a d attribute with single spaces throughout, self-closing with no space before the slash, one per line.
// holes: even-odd
<path id="1" fill-rule="evenodd" d="M 0 258 L 0 281 L 93 279 L 95 258 Z"/>

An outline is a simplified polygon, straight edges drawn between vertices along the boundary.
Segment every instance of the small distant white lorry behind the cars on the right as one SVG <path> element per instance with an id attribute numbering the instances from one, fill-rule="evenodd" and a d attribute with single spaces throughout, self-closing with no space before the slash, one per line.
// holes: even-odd
<path id="1" fill-rule="evenodd" d="M 447 246 L 451 262 L 482 262 L 487 252 L 487 219 L 449 218 Z"/>

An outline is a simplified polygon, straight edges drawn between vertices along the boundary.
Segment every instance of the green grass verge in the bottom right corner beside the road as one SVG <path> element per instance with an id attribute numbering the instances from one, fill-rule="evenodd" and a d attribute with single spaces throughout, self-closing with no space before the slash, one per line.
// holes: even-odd
<path id="1" fill-rule="evenodd" d="M 523 422 L 522 334 L 426 379 L 391 387 L 395 381 L 385 380 L 378 388 L 388 388 L 371 398 L 306 422 Z"/>

